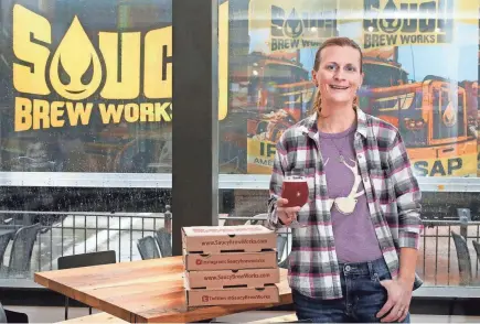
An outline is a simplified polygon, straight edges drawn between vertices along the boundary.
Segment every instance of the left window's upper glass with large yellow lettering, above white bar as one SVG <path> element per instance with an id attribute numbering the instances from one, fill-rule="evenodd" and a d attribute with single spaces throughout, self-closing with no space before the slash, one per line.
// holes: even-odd
<path id="1" fill-rule="evenodd" d="M 1 171 L 170 172 L 171 1 L 1 8 Z"/>

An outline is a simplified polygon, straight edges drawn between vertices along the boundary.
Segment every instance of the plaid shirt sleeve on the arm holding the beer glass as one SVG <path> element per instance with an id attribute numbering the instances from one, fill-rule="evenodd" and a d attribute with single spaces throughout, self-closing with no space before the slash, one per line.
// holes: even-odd
<path id="1" fill-rule="evenodd" d="M 281 186 L 284 183 L 285 170 L 287 165 L 287 151 L 281 140 L 282 137 L 280 138 L 280 140 L 276 145 L 277 152 L 275 153 L 274 166 L 271 169 L 270 185 L 269 185 L 270 197 L 268 199 L 267 226 L 273 229 L 282 227 L 282 225 L 278 222 L 278 215 L 276 212 L 277 199 L 281 195 Z"/>

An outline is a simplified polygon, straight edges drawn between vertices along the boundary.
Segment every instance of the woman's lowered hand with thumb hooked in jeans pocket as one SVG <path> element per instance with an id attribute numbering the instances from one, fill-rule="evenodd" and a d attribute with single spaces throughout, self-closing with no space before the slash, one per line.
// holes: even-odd
<path id="1" fill-rule="evenodd" d="M 402 322 L 408 315 L 413 287 L 399 280 L 382 280 L 380 283 L 386 289 L 388 299 L 376 317 L 390 312 L 381 322 Z"/>

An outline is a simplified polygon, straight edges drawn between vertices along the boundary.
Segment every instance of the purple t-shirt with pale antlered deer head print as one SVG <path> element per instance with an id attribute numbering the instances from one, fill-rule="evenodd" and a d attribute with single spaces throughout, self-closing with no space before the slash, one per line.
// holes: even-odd
<path id="1" fill-rule="evenodd" d="M 331 201 L 349 197 L 335 199 L 330 209 L 337 257 L 341 262 L 382 258 L 353 148 L 355 130 L 353 125 L 341 133 L 318 132 L 329 197 Z"/>

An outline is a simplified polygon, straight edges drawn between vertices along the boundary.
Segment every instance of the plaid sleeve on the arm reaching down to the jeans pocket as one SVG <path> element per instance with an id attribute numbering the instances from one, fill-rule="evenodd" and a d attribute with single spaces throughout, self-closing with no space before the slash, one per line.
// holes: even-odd
<path id="1" fill-rule="evenodd" d="M 423 231 L 422 193 L 398 132 L 388 149 L 388 164 L 398 208 L 398 247 L 418 249 Z"/>

